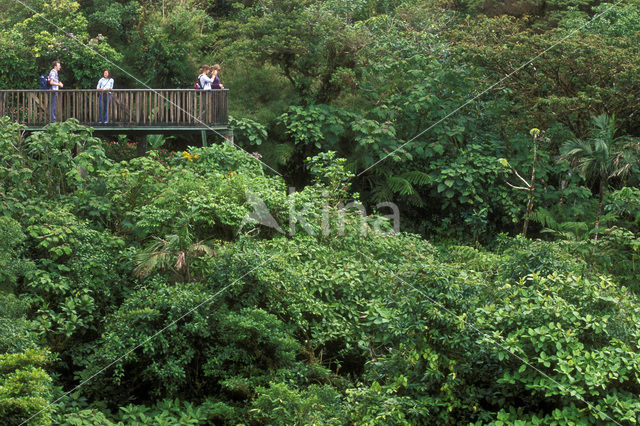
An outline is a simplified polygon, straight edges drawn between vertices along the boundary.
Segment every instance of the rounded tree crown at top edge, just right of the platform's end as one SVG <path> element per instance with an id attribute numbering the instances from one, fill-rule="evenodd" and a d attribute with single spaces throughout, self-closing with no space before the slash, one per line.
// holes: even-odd
<path id="1" fill-rule="evenodd" d="M 335 99 L 349 84 L 366 36 L 362 28 L 336 16 L 330 5 L 271 0 L 248 12 L 251 19 L 242 25 L 222 26 L 223 37 L 233 34 L 225 56 L 275 65 L 307 103 Z"/>

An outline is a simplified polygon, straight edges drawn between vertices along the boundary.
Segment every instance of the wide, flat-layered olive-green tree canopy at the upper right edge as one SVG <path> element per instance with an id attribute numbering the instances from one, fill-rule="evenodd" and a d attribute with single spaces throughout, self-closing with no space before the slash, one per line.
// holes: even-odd
<path id="1" fill-rule="evenodd" d="M 483 87 L 524 65 L 531 52 L 544 51 L 543 61 L 504 80 L 511 97 L 526 111 L 524 117 L 535 117 L 535 123 L 546 127 L 561 122 L 583 137 L 590 117 L 607 112 L 621 118 L 624 129 L 633 128 L 636 118 L 630 114 L 637 105 L 629 93 L 640 75 L 638 56 L 632 53 L 638 43 L 632 32 L 624 37 L 594 32 L 583 27 L 585 19 L 589 18 L 572 24 L 577 32 L 568 37 L 568 29 L 538 31 L 527 28 L 523 20 L 479 17 L 454 28 L 450 38 L 465 62 L 486 69 Z M 600 28 L 607 26 L 603 19 Z M 560 39 L 562 49 L 551 49 Z"/>

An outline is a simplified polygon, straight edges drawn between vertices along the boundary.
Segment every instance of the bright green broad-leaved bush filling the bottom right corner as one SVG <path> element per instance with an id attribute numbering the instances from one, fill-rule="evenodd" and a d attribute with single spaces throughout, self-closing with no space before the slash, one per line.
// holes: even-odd
<path id="1" fill-rule="evenodd" d="M 503 342 L 491 357 L 506 360 L 496 371 L 503 387 L 493 403 L 525 398 L 519 418 L 544 423 L 634 421 L 640 410 L 637 301 L 625 292 L 606 279 L 573 275 L 536 275 L 527 286 L 496 288 L 500 303 L 480 309 L 477 322 L 488 327 L 482 341 Z M 543 413 L 527 413 L 546 404 Z"/>

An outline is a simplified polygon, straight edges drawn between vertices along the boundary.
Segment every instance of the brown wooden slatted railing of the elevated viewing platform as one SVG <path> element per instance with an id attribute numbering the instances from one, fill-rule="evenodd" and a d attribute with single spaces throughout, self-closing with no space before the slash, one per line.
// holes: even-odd
<path id="1" fill-rule="evenodd" d="M 99 96 L 107 94 L 109 127 L 226 126 L 228 93 L 227 89 L 0 90 L 0 117 L 42 127 L 52 121 L 55 103 L 56 121 L 76 118 L 81 124 L 99 126 Z"/>

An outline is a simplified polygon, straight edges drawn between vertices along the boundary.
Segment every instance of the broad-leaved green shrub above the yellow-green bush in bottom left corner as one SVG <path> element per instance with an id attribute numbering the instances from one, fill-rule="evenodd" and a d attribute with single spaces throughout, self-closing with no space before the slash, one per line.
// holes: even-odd
<path id="1" fill-rule="evenodd" d="M 22 297 L 49 346 L 68 351 L 63 362 L 84 365 L 86 348 L 79 343 L 100 332 L 102 316 L 121 297 L 123 241 L 53 206 L 27 224 L 29 253 L 37 261 L 25 275 Z"/>

